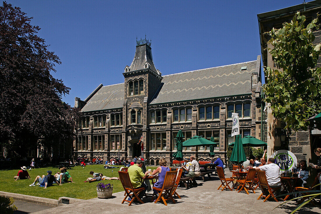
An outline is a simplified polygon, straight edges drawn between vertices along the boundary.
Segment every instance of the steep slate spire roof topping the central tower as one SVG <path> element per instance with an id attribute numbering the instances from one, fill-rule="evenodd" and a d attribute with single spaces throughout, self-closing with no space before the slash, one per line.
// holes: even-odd
<path id="1" fill-rule="evenodd" d="M 152 49 L 144 44 L 136 46 L 136 52 L 132 64 L 129 66 L 130 71 L 136 71 L 144 69 L 145 62 L 148 62 L 150 69 L 156 72 L 156 68 L 153 62 Z"/>

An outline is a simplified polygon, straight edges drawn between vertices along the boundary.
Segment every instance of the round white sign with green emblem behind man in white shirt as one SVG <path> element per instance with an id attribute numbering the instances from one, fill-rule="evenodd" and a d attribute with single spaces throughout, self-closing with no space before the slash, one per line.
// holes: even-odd
<path id="1" fill-rule="evenodd" d="M 280 171 L 289 171 L 298 164 L 297 157 L 288 150 L 274 152 L 271 157 L 275 159 L 275 164 L 280 167 Z"/>

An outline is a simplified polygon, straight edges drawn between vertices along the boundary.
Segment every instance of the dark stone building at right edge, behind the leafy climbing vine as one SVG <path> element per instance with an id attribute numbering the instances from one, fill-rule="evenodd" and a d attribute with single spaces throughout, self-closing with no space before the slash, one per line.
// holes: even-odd
<path id="1" fill-rule="evenodd" d="M 264 33 L 271 31 L 273 27 L 275 29 L 282 28 L 282 24 L 284 22 L 291 22 L 297 11 L 300 11 L 303 15 L 306 16 L 306 23 L 308 24 L 312 21 L 312 19 L 315 19 L 317 17 L 317 13 L 320 13 L 321 0 L 311 1 L 308 3 L 303 3 L 257 15 L 264 66 L 269 66 L 276 69 L 271 54 L 266 49 L 273 47 L 271 44 L 267 44 L 267 41 L 270 38 L 267 34 Z M 314 35 L 316 36 L 314 43 L 320 43 L 321 31 L 315 31 Z M 321 65 L 320 62 L 321 61 L 319 58 L 318 66 Z M 267 103 L 267 106 L 269 106 L 269 103 Z M 279 150 L 279 148 L 282 147 L 282 144 L 284 144 L 288 145 L 288 147 L 286 146 L 285 149 L 289 149 L 293 154 L 295 154 L 298 160 L 307 160 L 308 162 L 316 163 L 316 156 L 314 155 L 313 149 L 316 147 L 321 147 L 321 131 L 314 128 L 315 124 L 313 122 L 310 123 L 310 128 L 308 129 L 308 131 L 285 131 L 283 127 L 284 125 L 282 125 L 280 121 L 273 117 L 272 110 L 270 108 L 267 108 L 268 155 L 271 155 L 274 151 Z M 285 138 L 283 137 L 281 141 L 282 136 L 284 136 Z"/>

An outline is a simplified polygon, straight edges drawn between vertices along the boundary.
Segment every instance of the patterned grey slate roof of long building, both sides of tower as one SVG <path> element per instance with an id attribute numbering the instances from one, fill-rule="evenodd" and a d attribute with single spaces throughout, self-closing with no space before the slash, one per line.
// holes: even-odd
<path id="1" fill-rule="evenodd" d="M 163 76 L 159 93 L 150 104 L 174 103 L 214 97 L 251 94 L 251 76 L 259 72 L 261 58 L 233 65 L 205 68 Z M 246 70 L 241 67 L 247 66 Z M 102 86 L 89 96 L 82 111 L 100 111 L 123 107 L 125 84 Z"/>

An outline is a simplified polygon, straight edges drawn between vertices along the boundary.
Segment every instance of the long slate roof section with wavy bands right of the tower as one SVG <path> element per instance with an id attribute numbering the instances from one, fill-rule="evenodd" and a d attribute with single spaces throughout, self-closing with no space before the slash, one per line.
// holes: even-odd
<path id="1" fill-rule="evenodd" d="M 150 104 L 251 94 L 255 61 L 163 76 L 164 85 Z M 247 70 L 241 67 L 247 66 Z"/>

